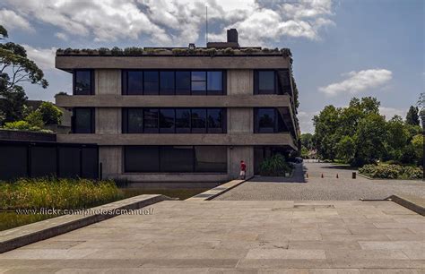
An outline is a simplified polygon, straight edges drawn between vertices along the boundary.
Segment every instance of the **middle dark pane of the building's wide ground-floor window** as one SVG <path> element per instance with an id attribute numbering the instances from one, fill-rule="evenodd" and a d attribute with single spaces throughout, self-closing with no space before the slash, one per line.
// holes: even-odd
<path id="1" fill-rule="evenodd" d="M 160 172 L 192 172 L 193 167 L 192 146 L 160 147 Z"/>

